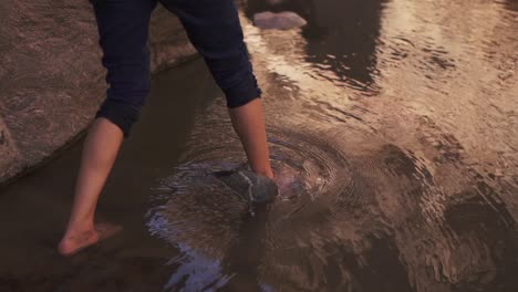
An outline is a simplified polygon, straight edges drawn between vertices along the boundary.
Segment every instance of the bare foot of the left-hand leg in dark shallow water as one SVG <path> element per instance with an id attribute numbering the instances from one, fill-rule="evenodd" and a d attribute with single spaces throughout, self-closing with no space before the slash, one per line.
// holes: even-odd
<path id="1" fill-rule="evenodd" d="M 99 223 L 92 230 L 73 232 L 69 231 L 63 237 L 58 247 L 58 251 L 63 255 L 72 255 L 84 248 L 93 246 L 101 240 L 112 237 L 122 230 L 122 227 L 110 223 Z"/>

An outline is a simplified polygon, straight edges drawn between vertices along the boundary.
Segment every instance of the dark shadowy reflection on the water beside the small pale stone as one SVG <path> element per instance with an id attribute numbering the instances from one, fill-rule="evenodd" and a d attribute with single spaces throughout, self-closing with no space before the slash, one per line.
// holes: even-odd
<path id="1" fill-rule="evenodd" d="M 375 48 L 386 0 L 248 0 L 249 19 L 263 11 L 293 11 L 308 21 L 305 62 L 335 84 L 372 91 L 376 75 Z M 332 73 L 332 74 L 330 74 Z"/>

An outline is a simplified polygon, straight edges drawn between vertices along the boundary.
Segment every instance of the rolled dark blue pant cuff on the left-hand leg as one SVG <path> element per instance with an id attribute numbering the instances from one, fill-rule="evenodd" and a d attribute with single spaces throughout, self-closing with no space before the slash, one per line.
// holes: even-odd
<path id="1" fill-rule="evenodd" d="M 116 100 L 105 100 L 95 114 L 95 118 L 107 118 L 122 129 L 124 137 L 127 137 L 138 115 L 139 109 L 133 105 Z"/>

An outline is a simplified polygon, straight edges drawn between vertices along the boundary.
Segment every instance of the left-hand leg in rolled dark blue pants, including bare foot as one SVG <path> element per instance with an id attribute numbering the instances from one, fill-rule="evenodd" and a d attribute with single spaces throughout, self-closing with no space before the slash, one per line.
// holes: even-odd
<path id="1" fill-rule="evenodd" d="M 84 142 L 72 213 L 59 246 L 62 254 L 72 254 L 114 231 L 107 226 L 94 226 L 95 207 L 123 137 L 137 119 L 149 90 L 146 43 L 155 3 L 149 0 L 94 3 L 110 88 Z"/>

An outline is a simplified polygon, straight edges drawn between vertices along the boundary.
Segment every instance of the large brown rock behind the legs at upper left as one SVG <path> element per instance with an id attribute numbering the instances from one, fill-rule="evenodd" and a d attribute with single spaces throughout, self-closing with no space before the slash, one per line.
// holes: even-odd
<path id="1" fill-rule="evenodd" d="M 81 134 L 104 98 L 105 71 L 86 0 L 0 2 L 0 184 Z M 195 54 L 179 21 L 158 7 L 152 69 Z"/>

